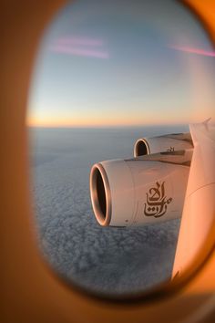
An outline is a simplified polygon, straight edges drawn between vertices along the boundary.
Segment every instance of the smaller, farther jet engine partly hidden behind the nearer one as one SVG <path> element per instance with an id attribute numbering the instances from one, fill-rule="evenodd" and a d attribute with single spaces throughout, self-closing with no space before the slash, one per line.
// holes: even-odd
<path id="1" fill-rule="evenodd" d="M 180 151 L 193 148 L 191 135 L 172 133 L 159 137 L 140 138 L 134 146 L 134 157 L 157 153 L 159 151 Z"/>

